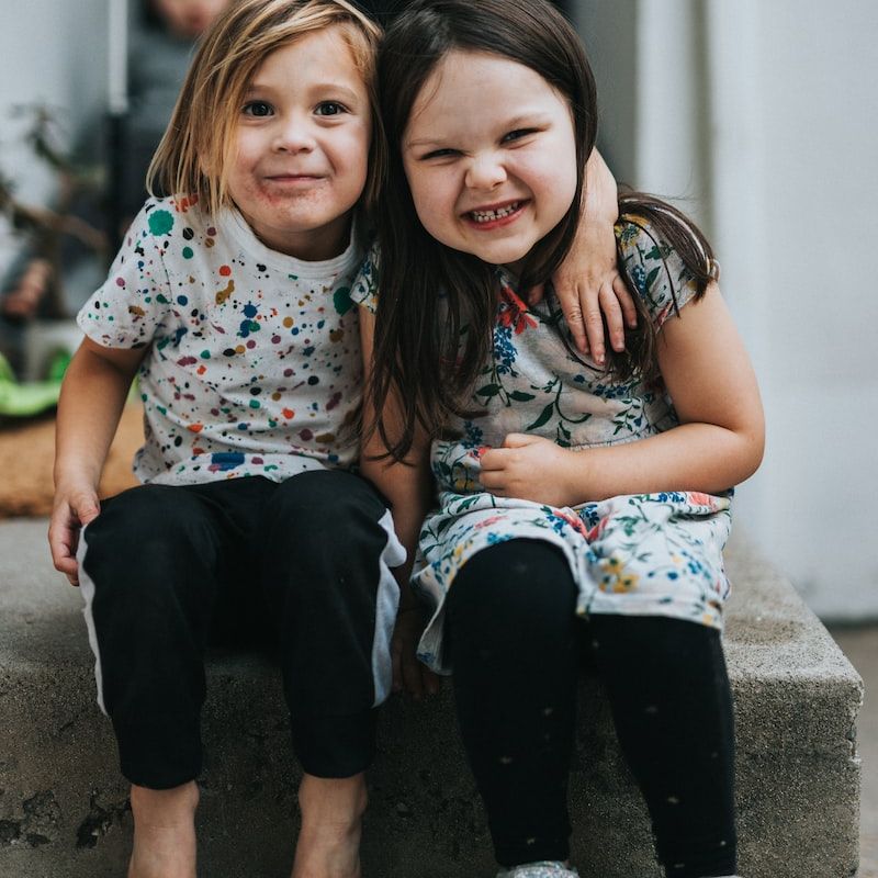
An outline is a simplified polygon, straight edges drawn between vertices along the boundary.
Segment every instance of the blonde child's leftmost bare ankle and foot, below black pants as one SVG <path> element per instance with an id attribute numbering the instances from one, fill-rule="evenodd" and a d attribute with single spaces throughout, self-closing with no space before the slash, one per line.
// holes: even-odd
<path id="1" fill-rule="evenodd" d="M 134 847 L 128 878 L 195 878 L 194 780 L 173 789 L 132 786 Z"/>

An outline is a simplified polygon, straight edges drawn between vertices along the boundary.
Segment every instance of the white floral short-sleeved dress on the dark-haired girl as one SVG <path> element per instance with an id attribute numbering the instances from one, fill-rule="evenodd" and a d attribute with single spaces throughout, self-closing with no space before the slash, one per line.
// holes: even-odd
<path id="1" fill-rule="evenodd" d="M 624 270 L 661 327 L 691 300 L 691 278 L 645 223 L 629 219 L 616 232 Z M 415 590 L 432 609 L 419 657 L 436 671 L 450 669 L 442 655 L 448 589 L 476 552 L 513 539 L 545 540 L 564 552 L 584 617 L 666 616 L 721 628 L 731 489 L 720 496 L 624 495 L 556 508 L 496 497 L 480 484 L 482 453 L 509 432 L 585 449 L 635 441 L 678 424 L 666 394 L 637 379 L 614 381 L 573 353 L 553 297 L 550 314 L 541 315 L 528 309 L 503 275 L 500 284 L 493 357 L 472 397 L 473 408 L 484 414 L 450 424 L 459 438 L 432 443 L 439 507 L 424 522 L 413 573 Z M 362 300 L 362 291 L 353 297 Z"/>

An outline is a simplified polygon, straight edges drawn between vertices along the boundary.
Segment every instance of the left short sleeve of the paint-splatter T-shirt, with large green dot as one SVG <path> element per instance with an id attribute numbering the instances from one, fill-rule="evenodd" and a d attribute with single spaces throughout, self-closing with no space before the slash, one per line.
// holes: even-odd
<path id="1" fill-rule="evenodd" d="M 105 348 L 148 345 L 171 316 L 165 254 L 178 229 L 173 207 L 148 201 L 125 233 L 103 286 L 77 315 L 79 328 Z"/>

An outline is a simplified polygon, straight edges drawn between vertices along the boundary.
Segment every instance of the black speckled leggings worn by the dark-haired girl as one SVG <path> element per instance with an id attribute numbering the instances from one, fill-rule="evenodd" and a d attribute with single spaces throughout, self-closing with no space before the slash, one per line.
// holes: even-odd
<path id="1" fill-rule="evenodd" d="M 562 552 L 511 540 L 473 556 L 447 604 L 461 734 L 503 866 L 570 854 L 576 679 L 590 654 L 668 876 L 735 871 L 732 705 L 719 632 L 574 612 Z"/>

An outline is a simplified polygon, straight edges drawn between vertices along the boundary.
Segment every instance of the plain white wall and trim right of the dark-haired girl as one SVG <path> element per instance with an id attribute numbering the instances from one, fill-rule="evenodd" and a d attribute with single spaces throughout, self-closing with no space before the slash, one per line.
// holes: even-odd
<path id="1" fill-rule="evenodd" d="M 623 120 L 606 151 L 640 188 L 703 200 L 768 418 L 739 527 L 824 618 L 878 617 L 878 4 L 632 5 L 581 2 L 604 116 Z"/>

